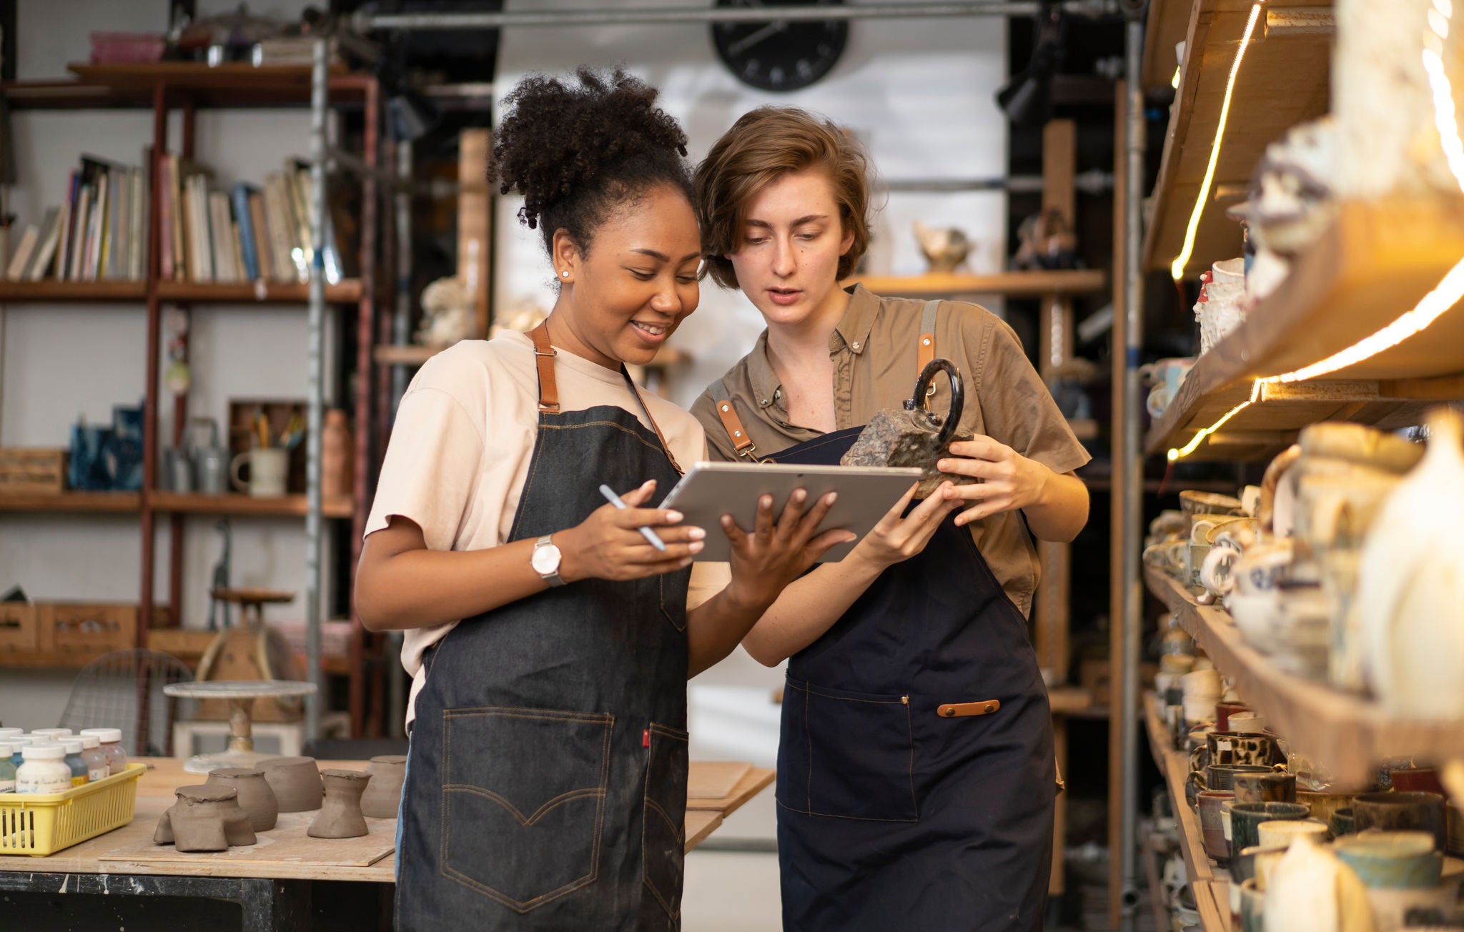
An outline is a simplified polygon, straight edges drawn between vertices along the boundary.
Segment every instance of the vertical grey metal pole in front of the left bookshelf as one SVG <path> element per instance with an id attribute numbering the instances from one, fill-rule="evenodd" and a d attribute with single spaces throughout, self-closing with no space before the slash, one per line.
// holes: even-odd
<path id="1" fill-rule="evenodd" d="M 309 404 L 305 435 L 305 663 L 315 695 L 305 699 L 305 734 L 321 736 L 321 702 L 325 677 L 321 673 L 321 427 L 325 421 L 325 105 L 329 56 L 325 40 L 315 41 L 310 64 L 310 313 L 309 313 Z"/>

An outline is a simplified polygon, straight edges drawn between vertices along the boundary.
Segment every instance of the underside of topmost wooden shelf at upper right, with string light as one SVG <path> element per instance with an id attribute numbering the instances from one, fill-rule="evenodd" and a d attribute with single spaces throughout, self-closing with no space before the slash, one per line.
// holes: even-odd
<path id="1" fill-rule="evenodd" d="M 1331 3 L 1288 0 L 1287 6 L 1326 7 Z M 1195 0 L 1192 6 L 1165 0 L 1149 13 L 1154 44 L 1146 44 L 1145 82 L 1162 73 L 1164 83 L 1174 73 L 1167 63 L 1174 60 L 1176 19 L 1189 13 L 1186 32 L 1180 37 L 1186 41 L 1180 86 L 1170 108 L 1146 224 L 1143 259 L 1149 269 L 1167 269 L 1183 247 L 1250 7 L 1250 0 Z M 1240 224 L 1225 217 L 1225 208 L 1246 198 L 1252 168 L 1266 145 L 1297 123 L 1326 113 L 1331 47 L 1331 35 L 1268 37 L 1263 16 L 1256 25 L 1236 78 L 1225 138 L 1186 277 L 1196 278 L 1212 262 L 1240 255 Z"/>

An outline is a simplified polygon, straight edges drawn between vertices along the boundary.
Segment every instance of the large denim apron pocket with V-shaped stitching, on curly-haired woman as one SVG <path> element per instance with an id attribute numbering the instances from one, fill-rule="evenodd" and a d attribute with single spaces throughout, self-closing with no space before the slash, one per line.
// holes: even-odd
<path id="1" fill-rule="evenodd" d="M 442 713 L 442 872 L 527 913 L 593 884 L 615 717 Z"/>

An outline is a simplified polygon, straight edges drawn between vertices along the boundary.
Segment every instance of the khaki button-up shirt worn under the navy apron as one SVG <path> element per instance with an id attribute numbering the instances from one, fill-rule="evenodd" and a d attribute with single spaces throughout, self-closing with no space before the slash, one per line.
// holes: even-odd
<path id="1" fill-rule="evenodd" d="M 851 290 L 849 309 L 829 337 L 839 430 L 865 424 L 875 411 L 897 408 L 911 397 L 919 375 L 916 342 L 924 307 L 922 300 L 884 298 L 862 285 Z M 962 430 L 1000 440 L 1054 473 L 1069 473 L 1091 459 L 1032 369 L 1016 334 L 990 310 L 943 301 L 935 319 L 935 357 L 955 363 L 965 380 Z M 757 456 L 776 458 L 780 451 L 820 436 L 818 430 L 789 421 L 782 385 L 767 358 L 767 331 L 722 382 L 748 437 L 757 445 Z M 950 389 L 944 379 L 935 382 L 931 410 L 944 411 Z M 706 427 L 712 455 L 736 459 L 710 389 L 691 413 Z M 993 575 L 1022 615 L 1028 615 L 1039 571 L 1025 519 L 1019 512 L 1006 512 L 969 527 Z"/>

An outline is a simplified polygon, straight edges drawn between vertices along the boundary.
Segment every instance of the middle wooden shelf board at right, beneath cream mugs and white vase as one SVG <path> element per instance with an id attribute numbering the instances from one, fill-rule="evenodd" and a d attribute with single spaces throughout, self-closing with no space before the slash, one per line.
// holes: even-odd
<path id="1" fill-rule="evenodd" d="M 1341 783 L 1369 783 L 1391 758 L 1426 755 L 1442 764 L 1464 756 L 1464 720 L 1395 718 L 1363 696 L 1284 673 L 1244 642 L 1224 609 L 1199 604 L 1177 579 L 1155 569 L 1145 569 L 1145 582 L 1246 704 Z"/>

